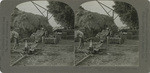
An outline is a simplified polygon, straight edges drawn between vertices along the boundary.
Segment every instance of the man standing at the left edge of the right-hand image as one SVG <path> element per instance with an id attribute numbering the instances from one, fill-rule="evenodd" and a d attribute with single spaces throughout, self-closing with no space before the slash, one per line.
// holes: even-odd
<path id="1" fill-rule="evenodd" d="M 78 49 L 82 48 L 84 46 L 84 33 L 79 30 L 78 26 L 75 26 L 75 39 L 79 40 L 79 47 Z"/>

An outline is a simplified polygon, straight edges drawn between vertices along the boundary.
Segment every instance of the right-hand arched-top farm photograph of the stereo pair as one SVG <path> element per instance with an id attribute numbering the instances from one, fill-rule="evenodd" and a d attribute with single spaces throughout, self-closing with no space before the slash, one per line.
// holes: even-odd
<path id="1" fill-rule="evenodd" d="M 120 1 L 88 1 L 75 14 L 75 66 L 139 66 L 139 21 Z"/>

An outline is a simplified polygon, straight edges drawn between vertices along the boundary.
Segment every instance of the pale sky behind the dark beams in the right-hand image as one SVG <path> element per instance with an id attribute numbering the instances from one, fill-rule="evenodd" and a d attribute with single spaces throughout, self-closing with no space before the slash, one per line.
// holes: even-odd
<path id="1" fill-rule="evenodd" d="M 108 7 L 110 7 L 111 9 L 113 9 L 113 5 L 115 5 L 115 3 L 113 1 L 100 1 L 101 3 L 107 5 Z M 105 10 L 99 5 L 99 3 L 97 1 L 90 1 L 90 2 L 86 2 L 86 3 L 83 3 L 81 5 L 85 10 L 88 10 L 88 11 L 91 11 L 91 12 L 97 12 L 99 14 L 105 14 L 105 15 L 108 15 Z M 103 6 L 107 12 L 110 11 L 109 8 Z M 113 16 L 113 11 L 110 11 L 109 13 L 110 16 Z M 116 13 L 114 13 L 114 18 L 117 16 Z M 125 24 L 123 24 L 120 20 L 120 17 L 117 17 L 115 20 L 114 20 L 115 24 L 118 26 L 118 27 L 123 27 L 125 26 Z"/>

